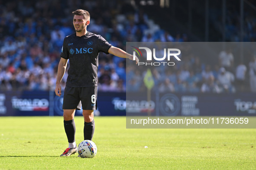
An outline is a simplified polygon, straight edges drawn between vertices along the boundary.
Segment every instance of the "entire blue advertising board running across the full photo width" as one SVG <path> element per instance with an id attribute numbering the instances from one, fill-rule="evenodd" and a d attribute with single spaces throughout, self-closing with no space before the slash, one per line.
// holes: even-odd
<path id="1" fill-rule="evenodd" d="M 62 101 L 54 91 L 2 91 L 0 116 L 62 116 Z M 96 116 L 256 116 L 253 93 L 160 93 L 149 99 L 147 93 L 128 98 L 126 93 L 98 92 L 97 106 Z"/>

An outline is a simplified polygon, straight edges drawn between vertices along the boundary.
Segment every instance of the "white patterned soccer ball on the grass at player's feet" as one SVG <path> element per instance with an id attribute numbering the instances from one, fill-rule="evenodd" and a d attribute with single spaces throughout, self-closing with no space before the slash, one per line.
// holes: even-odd
<path id="1" fill-rule="evenodd" d="M 84 140 L 78 145 L 78 154 L 82 158 L 94 157 L 97 153 L 97 146 L 90 140 Z"/>

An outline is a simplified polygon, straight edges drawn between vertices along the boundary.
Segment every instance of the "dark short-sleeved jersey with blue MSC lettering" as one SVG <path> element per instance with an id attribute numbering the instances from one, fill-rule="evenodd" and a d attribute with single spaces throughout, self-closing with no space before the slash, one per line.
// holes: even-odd
<path id="1" fill-rule="evenodd" d="M 69 87 L 97 86 L 99 52 L 108 54 L 109 44 L 100 35 L 87 31 L 86 35 L 76 36 L 76 33 L 65 37 L 61 57 L 69 59 Z"/>

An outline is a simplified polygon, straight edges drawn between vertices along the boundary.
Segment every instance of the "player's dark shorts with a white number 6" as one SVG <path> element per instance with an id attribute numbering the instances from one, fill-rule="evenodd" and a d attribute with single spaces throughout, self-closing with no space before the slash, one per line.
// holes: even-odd
<path id="1" fill-rule="evenodd" d="M 97 87 L 65 87 L 62 109 L 97 110 Z"/>

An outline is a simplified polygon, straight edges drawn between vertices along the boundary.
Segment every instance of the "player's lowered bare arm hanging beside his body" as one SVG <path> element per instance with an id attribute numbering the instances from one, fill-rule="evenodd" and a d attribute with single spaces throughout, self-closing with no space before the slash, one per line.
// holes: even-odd
<path id="1" fill-rule="evenodd" d="M 57 96 L 62 95 L 62 86 L 60 82 L 62 81 L 62 77 L 65 74 L 65 70 L 67 68 L 68 60 L 61 57 L 60 62 L 58 63 L 58 72 L 57 72 L 57 78 L 56 78 L 56 87 L 55 87 L 55 94 Z"/>

